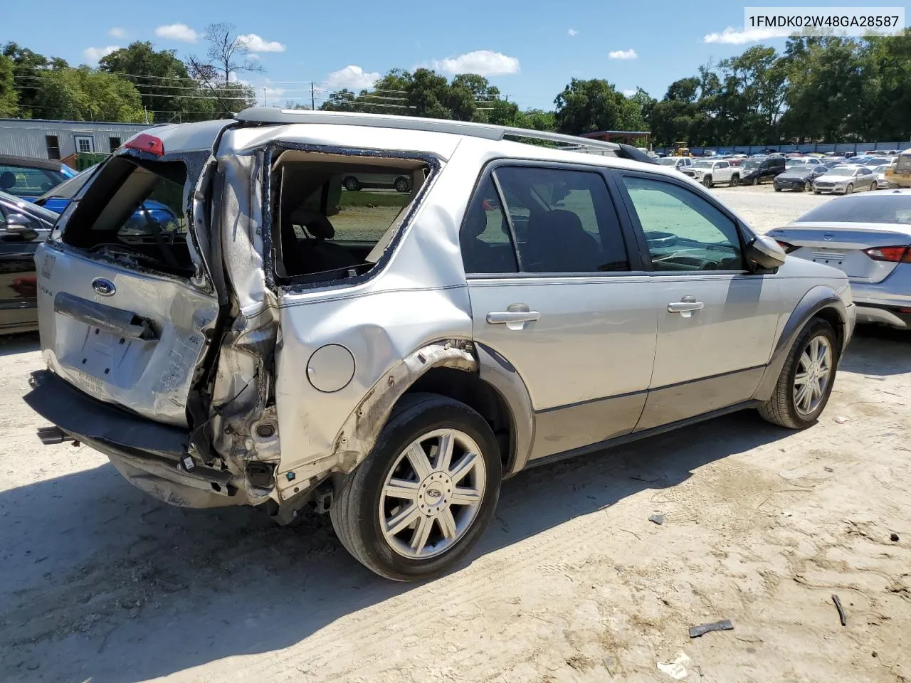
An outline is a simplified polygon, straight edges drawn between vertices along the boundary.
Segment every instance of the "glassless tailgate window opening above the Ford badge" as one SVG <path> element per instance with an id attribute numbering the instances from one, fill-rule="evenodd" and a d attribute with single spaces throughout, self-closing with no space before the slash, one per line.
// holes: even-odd
<path id="1" fill-rule="evenodd" d="M 195 266 L 187 244 L 182 161 L 116 157 L 80 199 L 61 239 L 129 268 L 189 277 Z"/>

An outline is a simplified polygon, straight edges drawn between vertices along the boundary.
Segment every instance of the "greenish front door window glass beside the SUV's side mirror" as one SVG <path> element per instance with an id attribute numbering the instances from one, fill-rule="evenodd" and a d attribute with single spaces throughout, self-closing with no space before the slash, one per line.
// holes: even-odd
<path id="1" fill-rule="evenodd" d="M 624 176 L 655 270 L 743 270 L 736 224 L 673 183 Z"/>

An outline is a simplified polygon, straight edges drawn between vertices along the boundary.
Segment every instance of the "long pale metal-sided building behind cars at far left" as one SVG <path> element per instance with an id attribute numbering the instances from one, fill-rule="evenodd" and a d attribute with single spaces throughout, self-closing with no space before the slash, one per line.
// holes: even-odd
<path id="1" fill-rule="evenodd" d="M 94 121 L 0 118 L 0 154 L 67 158 L 76 152 L 108 154 L 149 125 Z"/>

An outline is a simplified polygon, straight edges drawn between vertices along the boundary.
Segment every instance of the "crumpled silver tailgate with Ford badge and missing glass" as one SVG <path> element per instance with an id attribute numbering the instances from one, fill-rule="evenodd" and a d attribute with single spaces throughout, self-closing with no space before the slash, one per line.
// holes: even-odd
<path id="1" fill-rule="evenodd" d="M 180 426 L 219 312 L 196 196 L 209 158 L 110 158 L 36 256 L 51 370 L 101 401 Z"/>

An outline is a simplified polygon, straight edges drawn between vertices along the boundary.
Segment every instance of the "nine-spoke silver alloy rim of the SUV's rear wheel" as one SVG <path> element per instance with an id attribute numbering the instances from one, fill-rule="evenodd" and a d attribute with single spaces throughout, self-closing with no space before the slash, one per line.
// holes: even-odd
<path id="1" fill-rule="evenodd" d="M 410 559 L 444 553 L 475 521 L 485 486 L 484 458 L 468 434 L 456 429 L 423 434 L 386 475 L 378 511 L 386 543 Z"/>

